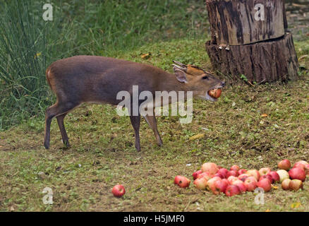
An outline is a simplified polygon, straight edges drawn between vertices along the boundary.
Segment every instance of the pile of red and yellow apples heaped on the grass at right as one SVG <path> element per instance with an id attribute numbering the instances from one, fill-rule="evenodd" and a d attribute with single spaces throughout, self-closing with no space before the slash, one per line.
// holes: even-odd
<path id="1" fill-rule="evenodd" d="M 206 162 L 200 170 L 193 173 L 193 184 L 199 190 L 207 189 L 215 195 L 224 193 L 226 196 L 255 191 L 256 188 L 268 192 L 272 189 L 272 184 L 277 182 L 281 184 L 284 190 L 298 191 L 303 189 L 303 182 L 306 176 L 309 176 L 308 162 L 296 162 L 291 168 L 289 160 L 282 160 L 279 162 L 278 167 L 277 172 L 272 171 L 269 167 L 262 167 L 260 170 L 246 170 L 241 169 L 238 165 L 233 165 L 228 170 L 217 166 L 213 162 Z M 174 184 L 186 188 L 190 186 L 190 179 L 176 176 Z"/>

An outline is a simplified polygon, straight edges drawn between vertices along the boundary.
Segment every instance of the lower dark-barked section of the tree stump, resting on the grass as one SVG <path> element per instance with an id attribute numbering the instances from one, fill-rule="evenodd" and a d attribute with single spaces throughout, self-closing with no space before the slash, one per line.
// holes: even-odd
<path id="1" fill-rule="evenodd" d="M 298 59 L 291 33 L 277 40 L 257 42 L 219 49 L 219 45 L 206 42 L 206 50 L 215 71 L 251 82 L 294 80 L 298 76 Z"/>

